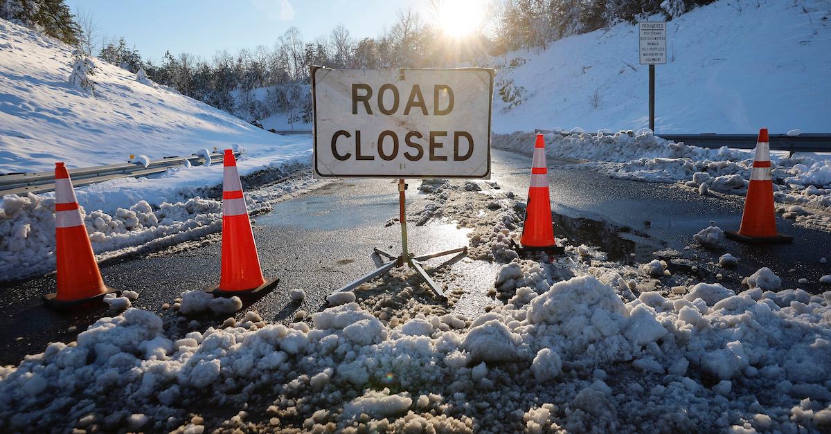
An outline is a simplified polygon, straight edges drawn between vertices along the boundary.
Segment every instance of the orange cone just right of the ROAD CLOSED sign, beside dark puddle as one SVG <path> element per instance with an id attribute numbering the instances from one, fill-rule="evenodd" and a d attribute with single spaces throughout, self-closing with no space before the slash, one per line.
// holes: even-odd
<path id="1" fill-rule="evenodd" d="M 531 166 L 531 185 L 519 243 L 526 250 L 562 249 L 558 248 L 554 240 L 551 201 L 548 196 L 548 168 L 545 165 L 545 140 L 542 134 L 537 135 Z"/>

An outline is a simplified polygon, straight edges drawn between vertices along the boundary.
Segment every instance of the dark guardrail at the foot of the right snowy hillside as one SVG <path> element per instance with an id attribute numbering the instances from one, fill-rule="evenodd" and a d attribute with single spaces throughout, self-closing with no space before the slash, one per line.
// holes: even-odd
<path id="1" fill-rule="evenodd" d="M 568 136 L 568 131 L 534 130 L 535 133 L 558 133 Z M 755 134 L 656 134 L 668 141 L 684 142 L 685 145 L 700 146 L 702 148 L 718 149 L 721 146 L 738 149 L 754 149 L 756 147 Z M 831 152 L 831 134 L 802 133 L 799 136 L 786 134 L 771 134 L 769 136 L 771 150 L 787 150 L 791 155 L 794 152 Z"/>

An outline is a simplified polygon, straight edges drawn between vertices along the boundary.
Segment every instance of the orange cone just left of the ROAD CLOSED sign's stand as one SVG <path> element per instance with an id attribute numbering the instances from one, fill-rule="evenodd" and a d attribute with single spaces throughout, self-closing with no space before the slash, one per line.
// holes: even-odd
<path id="1" fill-rule="evenodd" d="M 233 150 L 225 150 L 222 191 L 222 271 L 219 286 L 209 290 L 215 295 L 258 293 L 271 289 L 279 279 L 263 279 L 257 245 L 239 182 L 237 160 Z"/>

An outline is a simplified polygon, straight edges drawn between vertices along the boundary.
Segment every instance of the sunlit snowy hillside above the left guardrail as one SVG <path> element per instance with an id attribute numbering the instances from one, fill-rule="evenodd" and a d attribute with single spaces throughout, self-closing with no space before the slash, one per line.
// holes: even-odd
<path id="1" fill-rule="evenodd" d="M 130 154 L 155 160 L 231 144 L 252 155 L 282 155 L 289 145 L 98 59 L 95 96 L 78 91 L 67 83 L 71 47 L 4 20 L 0 59 L 0 173 L 52 170 L 55 161 L 113 164 Z"/>

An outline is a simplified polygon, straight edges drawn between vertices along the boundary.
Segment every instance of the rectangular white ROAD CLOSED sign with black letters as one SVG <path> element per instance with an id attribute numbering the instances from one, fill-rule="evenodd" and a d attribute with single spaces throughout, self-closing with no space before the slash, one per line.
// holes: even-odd
<path id="1" fill-rule="evenodd" d="M 494 72 L 312 68 L 314 175 L 489 178 Z"/>

